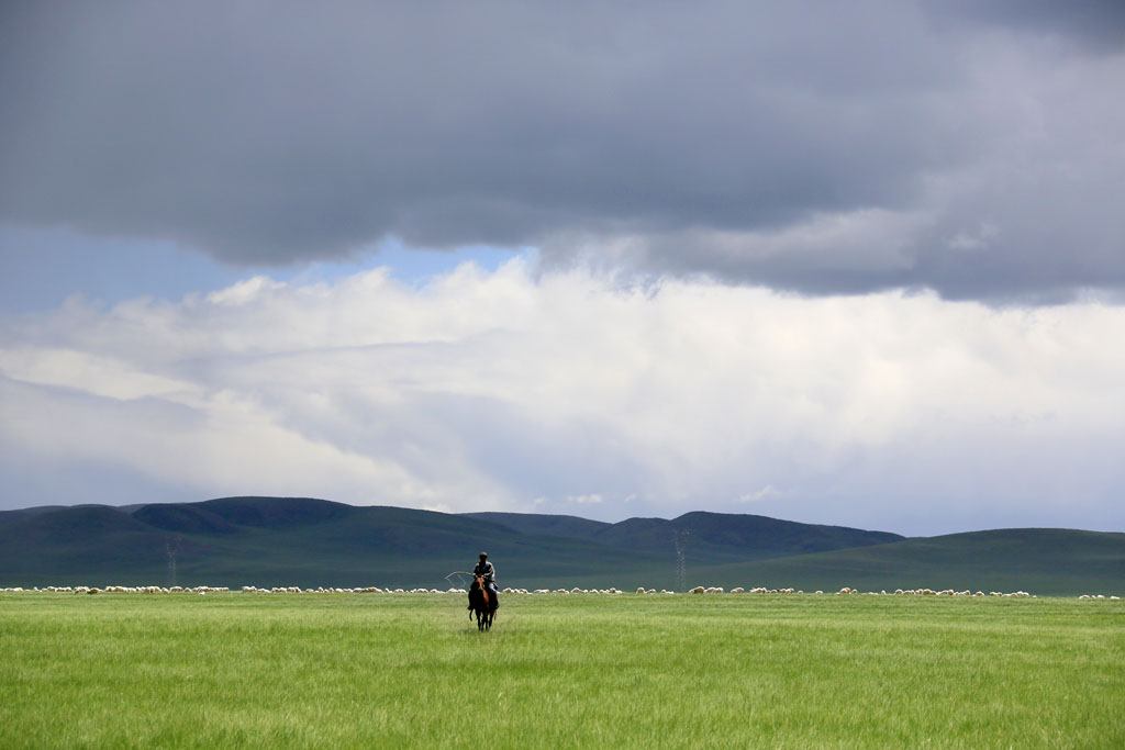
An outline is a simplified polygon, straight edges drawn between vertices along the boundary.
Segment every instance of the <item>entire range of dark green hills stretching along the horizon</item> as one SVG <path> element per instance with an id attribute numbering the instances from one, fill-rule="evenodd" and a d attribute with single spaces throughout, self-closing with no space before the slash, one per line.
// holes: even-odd
<path id="1" fill-rule="evenodd" d="M 0 586 L 444 588 L 460 582 L 447 576 L 487 549 L 505 586 L 675 589 L 677 546 L 687 585 L 972 588 L 1025 580 L 1017 588 L 1033 593 L 1125 594 L 1125 534 L 1001 530 L 908 540 L 708 512 L 604 523 L 269 497 L 0 512 Z"/>

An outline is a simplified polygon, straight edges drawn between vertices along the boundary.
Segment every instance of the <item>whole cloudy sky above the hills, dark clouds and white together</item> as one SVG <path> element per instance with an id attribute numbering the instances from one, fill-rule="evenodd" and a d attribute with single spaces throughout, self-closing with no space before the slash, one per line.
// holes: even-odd
<path id="1" fill-rule="evenodd" d="M 1125 531 L 1119 2 L 0 9 L 0 508 Z"/>

